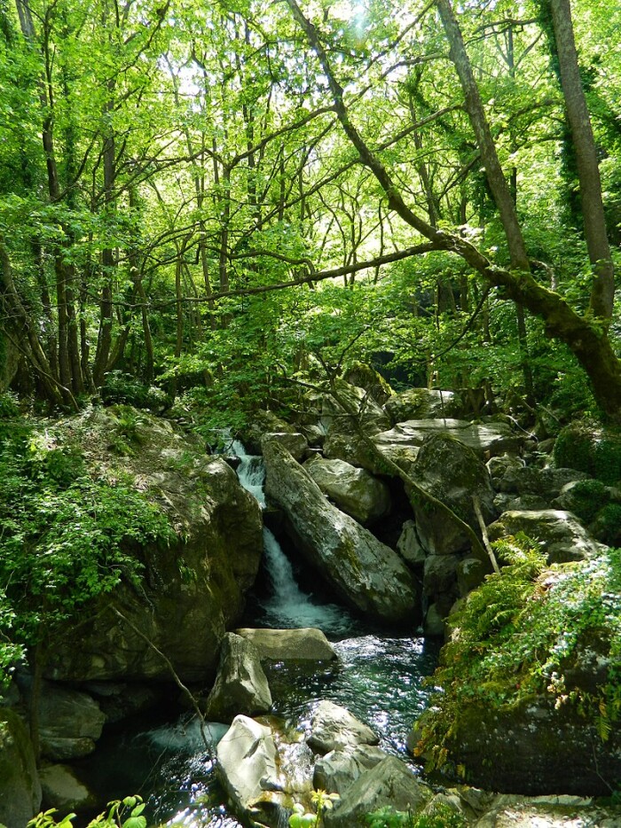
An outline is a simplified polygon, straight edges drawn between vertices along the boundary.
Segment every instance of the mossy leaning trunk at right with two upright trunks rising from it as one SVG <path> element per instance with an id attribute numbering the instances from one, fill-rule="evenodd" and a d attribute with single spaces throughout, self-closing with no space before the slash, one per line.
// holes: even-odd
<path id="1" fill-rule="evenodd" d="M 300 6 L 295 0 L 287 0 L 287 4 L 316 53 L 323 73 L 326 75 L 334 106 L 341 122 L 342 129 L 351 143 L 356 147 L 360 160 L 371 169 L 373 175 L 386 194 L 389 207 L 417 230 L 438 250 L 451 250 L 460 255 L 475 269 L 489 284 L 501 288 L 507 297 L 523 305 L 531 313 L 540 316 L 546 324 L 546 331 L 565 342 L 578 362 L 585 369 L 593 386 L 593 394 L 601 409 L 609 418 L 621 418 L 621 363 L 615 354 L 608 336 L 608 328 L 612 313 L 612 293 L 610 291 L 613 276 L 612 263 L 607 243 L 604 244 L 605 227 L 602 231 L 601 191 L 590 182 L 584 182 L 581 176 L 581 191 L 584 186 L 590 190 L 587 198 L 599 201 L 593 217 L 596 225 L 593 230 L 593 244 L 590 244 L 591 261 L 595 267 L 593 279 L 591 313 L 579 314 L 568 301 L 554 291 L 549 290 L 532 276 L 530 259 L 523 240 L 523 233 L 515 212 L 515 205 L 507 185 L 507 180 L 499 163 L 497 147 L 484 112 L 478 84 L 468 59 L 463 38 L 457 19 L 452 12 L 448 0 L 437 0 L 436 6 L 443 22 L 444 31 L 450 45 L 451 59 L 460 78 L 460 85 L 464 96 L 464 106 L 468 112 L 476 138 L 476 145 L 483 161 L 485 176 L 491 189 L 499 217 L 505 230 L 509 251 L 509 267 L 499 267 L 491 262 L 476 246 L 461 238 L 455 232 L 438 230 L 432 224 L 414 212 L 408 206 L 403 194 L 403 187 L 399 186 L 395 177 L 382 162 L 378 152 L 373 152 L 362 136 L 360 129 L 355 126 L 350 114 L 350 107 L 345 100 L 344 89 L 337 79 L 334 66 L 329 59 L 326 46 L 319 35 L 318 27 L 303 15 Z M 581 154 L 584 156 L 585 167 L 589 173 L 585 176 L 597 177 L 595 151 L 593 140 L 586 117 L 586 105 L 581 94 L 576 52 L 573 48 L 572 28 L 569 17 L 569 3 L 554 4 L 554 31 L 559 51 L 563 54 L 562 74 L 564 77 L 565 103 L 572 122 L 572 129 L 578 130 Z M 599 196 L 598 196 L 599 193 Z M 590 217 L 591 218 L 591 217 Z M 597 239 L 595 243 L 594 238 Z M 597 251 L 595 253 L 594 251 Z M 591 252 L 593 251 L 593 252 Z M 598 256 L 593 259 L 593 256 Z"/>

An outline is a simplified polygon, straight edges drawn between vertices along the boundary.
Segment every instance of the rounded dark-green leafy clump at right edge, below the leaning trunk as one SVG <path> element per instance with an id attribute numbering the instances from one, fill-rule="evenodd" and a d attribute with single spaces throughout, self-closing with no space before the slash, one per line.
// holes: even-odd
<path id="1" fill-rule="evenodd" d="M 621 432 L 593 423 L 572 423 L 554 443 L 554 465 L 586 472 L 608 486 L 621 481 Z"/>

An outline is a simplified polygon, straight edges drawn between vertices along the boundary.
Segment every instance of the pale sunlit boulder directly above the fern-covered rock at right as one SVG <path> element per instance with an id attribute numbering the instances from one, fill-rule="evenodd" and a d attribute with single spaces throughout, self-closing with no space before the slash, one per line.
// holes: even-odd
<path id="1" fill-rule="evenodd" d="M 593 558 L 604 548 L 586 532 L 571 514 L 561 510 L 544 509 L 532 512 L 503 512 L 488 527 L 491 541 L 523 532 L 537 541 L 550 564 Z"/>

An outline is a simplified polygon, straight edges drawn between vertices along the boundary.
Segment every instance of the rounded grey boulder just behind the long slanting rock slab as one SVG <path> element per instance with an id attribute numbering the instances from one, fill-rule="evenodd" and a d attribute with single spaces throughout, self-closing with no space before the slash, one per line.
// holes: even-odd
<path id="1" fill-rule="evenodd" d="M 358 523 L 368 526 L 389 513 L 388 486 L 365 469 L 323 457 L 307 461 L 304 468 L 321 491 Z"/>

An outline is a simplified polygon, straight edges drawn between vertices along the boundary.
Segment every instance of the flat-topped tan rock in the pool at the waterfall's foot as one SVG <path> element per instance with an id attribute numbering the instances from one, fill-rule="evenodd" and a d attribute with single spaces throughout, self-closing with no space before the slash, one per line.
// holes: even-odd
<path id="1" fill-rule="evenodd" d="M 272 661 L 333 661 L 337 658 L 332 644 L 320 629 L 261 629 L 242 627 L 235 634 L 255 644 L 262 659 Z"/>

